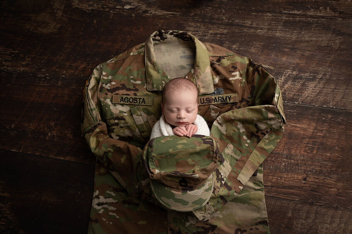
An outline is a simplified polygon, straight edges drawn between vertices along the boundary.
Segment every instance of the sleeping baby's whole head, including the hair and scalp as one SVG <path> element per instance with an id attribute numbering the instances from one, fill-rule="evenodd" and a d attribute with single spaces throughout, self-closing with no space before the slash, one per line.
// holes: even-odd
<path id="1" fill-rule="evenodd" d="M 198 113 L 198 88 L 186 78 L 175 78 L 163 88 L 161 108 L 173 126 L 194 123 Z"/>

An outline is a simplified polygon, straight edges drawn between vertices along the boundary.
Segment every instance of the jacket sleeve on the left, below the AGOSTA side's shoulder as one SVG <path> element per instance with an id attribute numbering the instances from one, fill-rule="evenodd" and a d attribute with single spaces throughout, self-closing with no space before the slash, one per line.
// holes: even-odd
<path id="1" fill-rule="evenodd" d="M 84 88 L 81 131 L 96 158 L 126 188 L 137 183 L 136 170 L 142 150 L 127 142 L 111 138 L 101 118 L 98 100 L 102 78 L 102 65 L 96 67 Z M 130 193 L 130 191 L 128 191 Z M 135 191 L 131 191 L 134 193 Z"/>

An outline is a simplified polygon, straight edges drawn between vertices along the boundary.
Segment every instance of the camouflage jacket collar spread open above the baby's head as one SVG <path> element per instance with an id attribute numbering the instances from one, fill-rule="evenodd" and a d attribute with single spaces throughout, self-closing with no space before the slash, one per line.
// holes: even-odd
<path id="1" fill-rule="evenodd" d="M 187 74 L 188 79 L 191 77 L 190 80 L 197 85 L 199 94 L 208 94 L 214 91 L 207 48 L 194 35 L 182 31 L 157 31 L 151 34 L 146 40 L 145 68 L 147 90 L 161 91 L 164 83 L 169 80 L 168 75 L 156 61 L 153 41 L 193 41 L 195 44 L 196 54 L 194 69 L 191 69 L 191 71 Z"/>

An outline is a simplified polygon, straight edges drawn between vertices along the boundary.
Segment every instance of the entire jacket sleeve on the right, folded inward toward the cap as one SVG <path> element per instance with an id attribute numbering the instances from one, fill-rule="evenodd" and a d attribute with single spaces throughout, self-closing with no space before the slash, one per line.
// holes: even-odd
<path id="1" fill-rule="evenodd" d="M 209 215 L 233 200 L 258 173 L 284 133 L 285 116 L 276 79 L 250 59 L 245 71 L 252 104 L 221 114 L 212 126 L 210 136 L 218 141 L 222 164 L 209 200 L 212 208 L 200 214 Z M 206 218 L 197 212 L 193 213 L 199 219 Z"/>

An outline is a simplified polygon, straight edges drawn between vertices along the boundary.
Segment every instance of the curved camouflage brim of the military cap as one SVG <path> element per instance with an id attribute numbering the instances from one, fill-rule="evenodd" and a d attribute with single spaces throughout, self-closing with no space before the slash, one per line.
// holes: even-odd
<path id="1" fill-rule="evenodd" d="M 214 173 L 200 187 L 191 191 L 177 192 L 151 179 L 156 199 L 165 207 L 177 211 L 192 211 L 206 205 L 214 188 Z"/>

